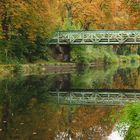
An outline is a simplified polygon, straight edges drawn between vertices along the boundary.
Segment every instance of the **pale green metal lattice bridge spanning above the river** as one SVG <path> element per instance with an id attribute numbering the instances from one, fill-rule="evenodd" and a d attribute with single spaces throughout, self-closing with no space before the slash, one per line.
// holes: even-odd
<path id="1" fill-rule="evenodd" d="M 140 44 L 140 30 L 58 31 L 49 45 L 134 45 Z"/>

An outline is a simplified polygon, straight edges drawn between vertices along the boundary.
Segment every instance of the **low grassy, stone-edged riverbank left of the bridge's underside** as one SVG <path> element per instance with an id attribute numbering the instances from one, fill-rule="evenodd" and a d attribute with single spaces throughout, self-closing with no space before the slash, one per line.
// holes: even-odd
<path id="1" fill-rule="evenodd" d="M 0 65 L 0 77 L 13 74 L 70 73 L 75 71 L 75 63 L 36 63 Z"/>

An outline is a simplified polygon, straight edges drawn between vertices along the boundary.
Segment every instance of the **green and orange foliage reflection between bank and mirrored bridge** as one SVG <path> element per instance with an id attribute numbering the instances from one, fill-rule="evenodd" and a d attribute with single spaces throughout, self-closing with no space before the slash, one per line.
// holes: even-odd
<path id="1" fill-rule="evenodd" d="M 86 69 L 77 74 L 72 74 L 72 88 L 96 88 L 96 89 L 140 89 L 140 67 L 110 66 L 106 69 Z"/>

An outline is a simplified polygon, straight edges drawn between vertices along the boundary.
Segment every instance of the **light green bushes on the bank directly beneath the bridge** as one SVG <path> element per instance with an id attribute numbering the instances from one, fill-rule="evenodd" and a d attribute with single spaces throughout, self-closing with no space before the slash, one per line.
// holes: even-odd
<path id="1" fill-rule="evenodd" d="M 112 52 L 112 48 L 107 46 L 73 46 L 71 51 L 71 61 L 77 63 L 118 63 L 117 56 Z"/>

